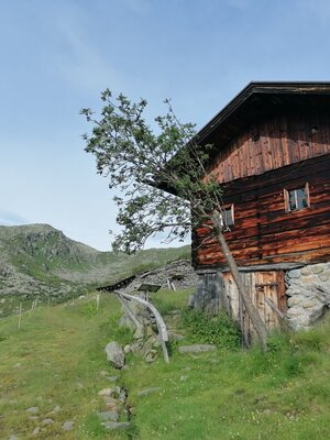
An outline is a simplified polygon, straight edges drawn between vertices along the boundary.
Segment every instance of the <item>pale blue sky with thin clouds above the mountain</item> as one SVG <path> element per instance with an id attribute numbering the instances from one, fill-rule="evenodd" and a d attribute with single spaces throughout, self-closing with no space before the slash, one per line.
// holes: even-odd
<path id="1" fill-rule="evenodd" d="M 251 80 L 330 80 L 328 0 L 0 0 L 0 224 L 111 246 L 81 135 L 110 88 L 205 125 Z M 161 245 L 157 238 L 148 246 Z"/>

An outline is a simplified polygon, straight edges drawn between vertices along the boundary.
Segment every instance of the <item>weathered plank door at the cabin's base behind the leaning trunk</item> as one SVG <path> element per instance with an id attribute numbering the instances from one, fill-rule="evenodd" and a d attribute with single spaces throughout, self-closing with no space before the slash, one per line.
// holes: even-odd
<path id="1" fill-rule="evenodd" d="M 257 309 L 268 331 L 278 327 L 278 319 L 265 297 L 283 312 L 286 311 L 285 284 L 283 271 L 242 272 L 243 282 L 251 294 L 252 302 Z M 255 330 L 246 316 L 239 296 L 237 285 L 230 273 L 223 273 L 224 290 L 228 299 L 228 310 L 242 329 L 245 343 L 249 345 L 255 337 Z"/>

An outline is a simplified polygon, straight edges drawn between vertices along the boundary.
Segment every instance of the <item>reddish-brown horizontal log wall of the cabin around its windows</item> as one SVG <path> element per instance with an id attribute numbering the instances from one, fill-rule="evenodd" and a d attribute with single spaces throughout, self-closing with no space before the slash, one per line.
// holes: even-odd
<path id="1" fill-rule="evenodd" d="M 284 189 L 306 183 L 310 207 L 286 212 Z M 329 261 L 330 154 L 227 183 L 223 202 L 234 205 L 234 226 L 226 239 L 239 265 Z M 208 233 L 207 228 L 194 231 L 196 268 L 224 265 Z"/>

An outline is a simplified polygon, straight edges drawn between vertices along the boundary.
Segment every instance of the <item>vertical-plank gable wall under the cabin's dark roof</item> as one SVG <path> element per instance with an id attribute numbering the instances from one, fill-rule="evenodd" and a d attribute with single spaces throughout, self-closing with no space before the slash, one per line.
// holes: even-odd
<path id="1" fill-rule="evenodd" d="M 329 114 L 282 114 L 255 122 L 230 145 L 217 145 L 220 183 L 255 176 L 330 153 Z"/>

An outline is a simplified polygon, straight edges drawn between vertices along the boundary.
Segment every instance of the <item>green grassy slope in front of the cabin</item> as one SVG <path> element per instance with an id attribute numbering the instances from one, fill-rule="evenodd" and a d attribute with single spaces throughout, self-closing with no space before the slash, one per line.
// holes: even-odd
<path id="1" fill-rule="evenodd" d="M 161 292 L 155 301 L 169 311 L 184 307 L 188 294 Z M 16 316 L 0 320 L 1 439 L 329 438 L 329 321 L 289 340 L 273 337 L 265 356 L 257 349 L 193 356 L 174 348 L 169 365 L 162 358 L 148 365 L 130 355 L 130 369 L 117 372 L 103 348 L 130 339 L 117 327 L 119 316 L 117 300 L 105 296 L 98 311 L 90 298 L 25 312 L 21 331 Z M 102 370 L 129 389 L 135 414 L 130 435 L 105 432 L 97 421 L 98 391 L 109 386 Z M 138 396 L 148 387 L 161 392 Z M 32 437 L 36 425 L 25 409 L 38 406 L 42 420 L 56 405 L 61 411 L 48 416 L 55 422 Z M 70 419 L 75 430 L 64 433 L 61 426 Z"/>

